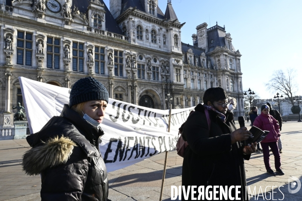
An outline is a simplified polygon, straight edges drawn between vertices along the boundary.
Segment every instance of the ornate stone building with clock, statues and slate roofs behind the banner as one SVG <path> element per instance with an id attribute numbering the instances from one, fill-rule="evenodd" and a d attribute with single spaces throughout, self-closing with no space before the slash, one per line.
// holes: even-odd
<path id="1" fill-rule="evenodd" d="M 193 45 L 181 42 L 180 23 L 168 1 L 6 0 L 1 5 L 0 126 L 13 125 L 12 105 L 23 105 L 18 77 L 71 88 L 87 76 L 110 98 L 157 109 L 201 102 L 221 86 L 243 111 L 240 53 L 230 34 L 203 23 Z"/>

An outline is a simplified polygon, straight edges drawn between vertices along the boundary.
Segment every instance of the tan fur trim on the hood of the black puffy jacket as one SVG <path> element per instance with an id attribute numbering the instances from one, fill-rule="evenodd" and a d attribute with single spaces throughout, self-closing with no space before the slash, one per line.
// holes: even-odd
<path id="1" fill-rule="evenodd" d="M 50 138 L 42 142 L 41 146 L 33 147 L 23 155 L 23 171 L 28 175 L 40 174 L 46 168 L 51 168 L 67 162 L 77 146 L 71 139 L 66 137 Z"/>

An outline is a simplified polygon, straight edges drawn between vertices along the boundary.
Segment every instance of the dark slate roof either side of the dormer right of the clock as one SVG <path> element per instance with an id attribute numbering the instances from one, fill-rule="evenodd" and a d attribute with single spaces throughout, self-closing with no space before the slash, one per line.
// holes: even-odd
<path id="1" fill-rule="evenodd" d="M 109 32 L 113 32 L 116 34 L 120 34 L 123 35 L 122 30 L 120 30 L 118 24 L 116 23 L 115 19 L 113 18 L 113 16 L 111 15 L 109 9 L 107 8 L 106 4 L 104 3 L 103 0 L 99 0 L 102 4 L 104 4 L 105 6 L 105 28 L 109 31 Z M 72 8 L 74 8 L 74 6 L 79 8 L 79 11 L 81 13 L 86 13 L 87 8 L 90 4 L 89 0 L 73 0 L 73 5 Z M 88 18 L 87 18 L 88 19 Z"/>

